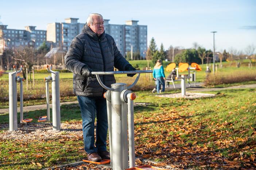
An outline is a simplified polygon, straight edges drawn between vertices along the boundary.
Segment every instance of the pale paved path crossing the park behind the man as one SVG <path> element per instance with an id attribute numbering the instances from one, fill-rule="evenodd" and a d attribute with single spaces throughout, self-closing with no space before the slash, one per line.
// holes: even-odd
<path id="1" fill-rule="evenodd" d="M 176 84 L 175 84 L 176 85 Z M 238 86 L 230 86 L 230 87 L 225 87 L 225 88 L 202 88 L 200 83 L 197 83 L 197 86 L 194 87 L 194 84 L 191 84 L 191 88 L 187 88 L 187 92 L 209 92 L 209 91 L 217 91 L 217 90 L 226 90 L 226 89 L 243 89 L 243 88 L 256 88 L 256 84 L 248 84 L 248 85 L 238 85 Z M 173 89 L 172 84 L 170 83 L 170 87 L 168 89 Z M 188 84 L 187 84 L 188 87 Z M 180 85 L 176 85 L 176 88 L 179 89 Z M 61 105 L 69 105 L 69 104 L 78 104 L 78 101 L 72 101 L 72 102 L 63 102 Z M 51 108 L 51 104 L 50 104 Z M 28 111 L 34 111 L 34 110 L 42 110 L 46 109 L 46 104 L 45 105 L 34 105 L 34 106 L 25 106 L 23 107 L 23 112 L 28 112 Z M 20 108 L 18 108 L 18 112 L 20 112 Z M 0 113 L 9 113 L 9 108 L 8 109 L 0 109 Z"/>

